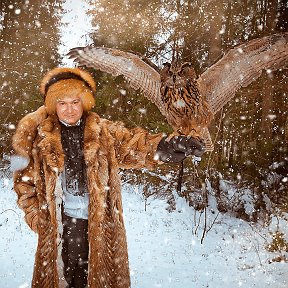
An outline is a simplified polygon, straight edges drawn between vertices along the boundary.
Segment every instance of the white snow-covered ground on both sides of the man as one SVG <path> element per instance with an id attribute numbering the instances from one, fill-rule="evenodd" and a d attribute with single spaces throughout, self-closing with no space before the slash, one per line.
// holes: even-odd
<path id="1" fill-rule="evenodd" d="M 201 244 L 204 215 L 176 200 L 169 213 L 165 201 L 145 205 L 141 187 L 124 185 L 132 288 L 288 287 L 288 264 L 271 262 L 277 254 L 265 249 L 274 224 L 261 228 L 219 214 Z M 11 179 L 0 179 L 0 207 L 0 287 L 30 287 L 37 237 L 23 221 Z M 208 226 L 214 220 L 207 209 Z M 287 235 L 287 225 L 281 229 Z"/>

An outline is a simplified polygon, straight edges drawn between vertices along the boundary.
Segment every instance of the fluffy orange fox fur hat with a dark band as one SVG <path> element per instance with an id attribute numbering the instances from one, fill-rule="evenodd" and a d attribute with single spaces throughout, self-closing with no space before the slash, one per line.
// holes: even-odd
<path id="1" fill-rule="evenodd" d="M 55 68 L 43 77 L 40 92 L 48 114 L 56 114 L 58 100 L 74 95 L 80 96 L 83 110 L 89 111 L 95 105 L 96 83 L 88 72 L 79 68 Z"/>

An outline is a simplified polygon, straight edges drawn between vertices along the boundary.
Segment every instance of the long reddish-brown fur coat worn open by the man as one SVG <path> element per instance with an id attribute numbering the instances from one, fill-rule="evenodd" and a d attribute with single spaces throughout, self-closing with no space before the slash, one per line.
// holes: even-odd
<path id="1" fill-rule="evenodd" d="M 40 107 L 19 122 L 13 136 L 15 154 L 29 163 L 14 173 L 14 190 L 27 224 L 38 234 L 32 287 L 62 286 L 62 191 L 57 184 L 64 168 L 60 129 L 57 117 L 48 116 Z M 162 137 L 141 128 L 128 130 L 122 123 L 101 119 L 93 112 L 87 115 L 88 287 L 130 287 L 119 168 L 155 166 L 154 152 Z"/>

